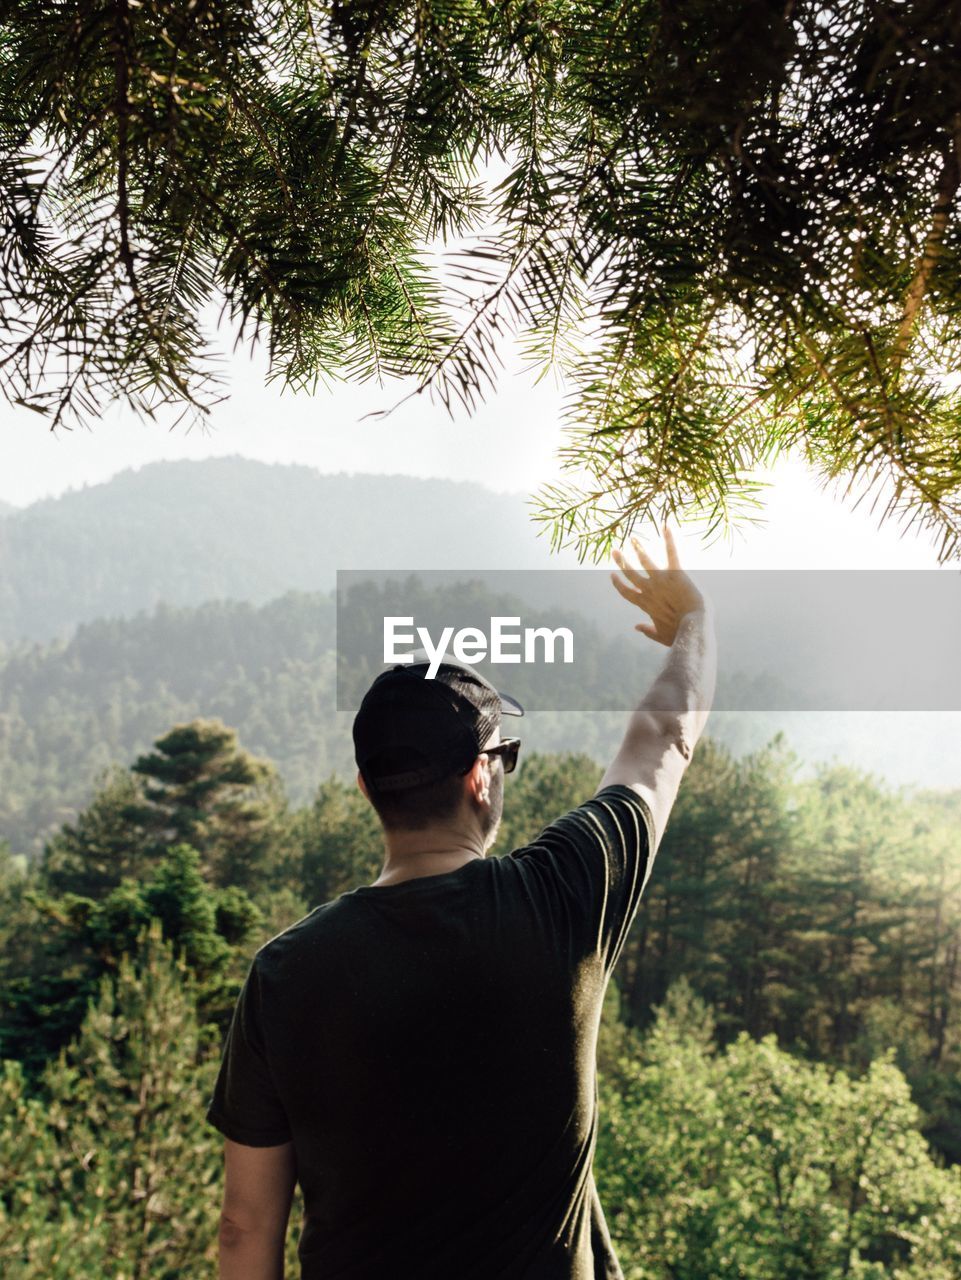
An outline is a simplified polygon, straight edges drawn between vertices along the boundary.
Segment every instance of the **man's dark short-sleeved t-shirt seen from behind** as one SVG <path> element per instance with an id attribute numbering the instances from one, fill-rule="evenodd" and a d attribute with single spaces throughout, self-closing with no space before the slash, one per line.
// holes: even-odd
<path id="1" fill-rule="evenodd" d="M 616 1280 L 604 991 L 650 874 L 605 787 L 505 858 L 343 893 L 262 946 L 207 1119 L 293 1140 L 303 1280 Z"/>

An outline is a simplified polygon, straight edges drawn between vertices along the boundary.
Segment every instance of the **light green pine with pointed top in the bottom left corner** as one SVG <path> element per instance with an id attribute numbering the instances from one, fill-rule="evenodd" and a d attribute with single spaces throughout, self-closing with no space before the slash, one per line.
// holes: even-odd
<path id="1" fill-rule="evenodd" d="M 184 966 L 155 928 L 137 963 L 104 979 L 38 1096 L 5 1065 L 4 1275 L 212 1274 L 221 1142 L 201 1103 L 218 1060 Z"/>

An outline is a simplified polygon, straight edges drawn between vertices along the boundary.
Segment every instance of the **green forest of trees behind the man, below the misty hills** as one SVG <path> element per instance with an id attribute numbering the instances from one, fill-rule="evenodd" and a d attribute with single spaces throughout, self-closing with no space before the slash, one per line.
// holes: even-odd
<path id="1" fill-rule="evenodd" d="M 630 1280 L 958 1274 L 961 797 L 795 765 L 699 742 L 608 988 L 595 1169 Z M 600 772 L 527 755 L 491 856 Z M 381 858 L 354 783 L 293 809 L 273 774 L 178 724 L 26 873 L 0 847 L 0 1265 L 23 1280 L 212 1274 L 203 1110 L 251 955 Z"/>

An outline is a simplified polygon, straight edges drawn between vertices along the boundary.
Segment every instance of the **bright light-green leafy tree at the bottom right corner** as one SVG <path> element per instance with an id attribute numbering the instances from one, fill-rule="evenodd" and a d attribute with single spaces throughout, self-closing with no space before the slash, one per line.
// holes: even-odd
<path id="1" fill-rule="evenodd" d="M 889 1061 L 861 1079 L 742 1034 L 711 1047 L 673 988 L 603 1078 L 601 1202 L 628 1280 L 948 1280 L 961 1171 L 939 1169 Z"/>

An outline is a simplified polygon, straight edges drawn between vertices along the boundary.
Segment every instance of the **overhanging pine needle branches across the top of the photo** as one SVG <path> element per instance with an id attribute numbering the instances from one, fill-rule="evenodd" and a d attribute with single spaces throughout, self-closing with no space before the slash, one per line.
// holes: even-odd
<path id="1" fill-rule="evenodd" d="M 448 408 L 517 335 L 569 379 L 555 541 L 726 529 L 792 449 L 961 549 L 958 0 L 8 0 L 0 42 L 0 385 L 52 425 L 207 408 L 211 306 Z"/>

